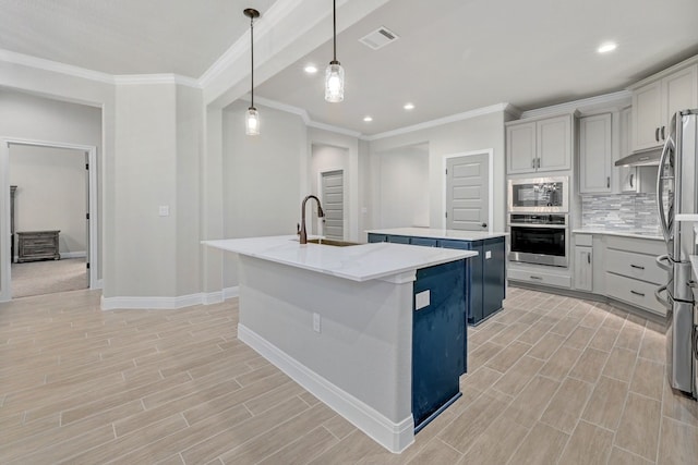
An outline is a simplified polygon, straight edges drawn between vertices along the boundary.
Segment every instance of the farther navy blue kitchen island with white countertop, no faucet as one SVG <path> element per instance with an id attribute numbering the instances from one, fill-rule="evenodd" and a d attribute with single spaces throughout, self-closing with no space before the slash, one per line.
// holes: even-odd
<path id="1" fill-rule="evenodd" d="M 393 228 L 366 231 L 369 242 L 389 242 L 478 252 L 468 260 L 466 293 L 468 323 L 478 325 L 501 310 L 506 296 L 506 236 L 508 233 L 434 228 Z"/>

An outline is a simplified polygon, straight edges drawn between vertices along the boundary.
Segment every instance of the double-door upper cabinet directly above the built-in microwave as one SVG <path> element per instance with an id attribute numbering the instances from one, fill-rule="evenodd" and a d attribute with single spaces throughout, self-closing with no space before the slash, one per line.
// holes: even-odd
<path id="1" fill-rule="evenodd" d="M 506 127 L 507 172 L 571 169 L 571 115 L 510 122 Z"/>

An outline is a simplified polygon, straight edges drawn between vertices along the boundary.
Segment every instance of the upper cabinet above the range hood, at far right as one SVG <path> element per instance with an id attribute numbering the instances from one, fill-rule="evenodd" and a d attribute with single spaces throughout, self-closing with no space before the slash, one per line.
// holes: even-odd
<path id="1" fill-rule="evenodd" d="M 660 147 L 678 110 L 698 107 L 698 64 L 633 89 L 633 150 Z"/>

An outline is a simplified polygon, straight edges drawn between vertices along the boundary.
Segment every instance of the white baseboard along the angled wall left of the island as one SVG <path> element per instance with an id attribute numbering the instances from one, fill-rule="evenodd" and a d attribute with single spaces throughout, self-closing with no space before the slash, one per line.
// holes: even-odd
<path id="1" fill-rule="evenodd" d="M 192 305 L 219 304 L 228 298 L 238 297 L 239 295 L 240 289 L 238 286 L 226 287 L 218 292 L 200 292 L 197 294 L 180 295 L 177 297 L 105 297 L 103 295 L 101 309 L 157 308 L 173 310 Z"/>

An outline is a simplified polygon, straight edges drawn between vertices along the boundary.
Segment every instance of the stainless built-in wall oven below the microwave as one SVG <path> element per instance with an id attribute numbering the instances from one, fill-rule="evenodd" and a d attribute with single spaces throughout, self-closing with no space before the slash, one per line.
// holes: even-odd
<path id="1" fill-rule="evenodd" d="M 567 267 L 567 213 L 509 213 L 509 261 Z"/>

